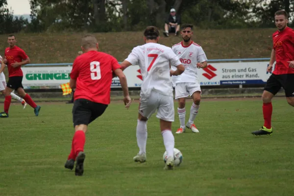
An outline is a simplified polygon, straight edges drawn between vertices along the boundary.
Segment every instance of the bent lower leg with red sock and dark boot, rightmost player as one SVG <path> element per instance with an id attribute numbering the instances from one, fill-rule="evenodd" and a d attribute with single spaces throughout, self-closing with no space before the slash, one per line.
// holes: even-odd
<path id="1" fill-rule="evenodd" d="M 263 98 L 263 116 L 264 116 L 264 125 L 257 131 L 253 131 L 253 135 L 271 135 L 272 134 L 272 128 L 271 128 L 271 115 L 272 115 L 272 104 L 271 104 L 271 98 L 273 97 L 273 94 L 271 94 L 268 91 L 264 91 L 262 98 Z"/>

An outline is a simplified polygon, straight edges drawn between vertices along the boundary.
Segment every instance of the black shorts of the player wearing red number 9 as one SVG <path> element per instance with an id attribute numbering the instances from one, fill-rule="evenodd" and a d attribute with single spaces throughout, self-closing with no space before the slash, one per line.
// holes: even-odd
<path id="1" fill-rule="evenodd" d="M 108 105 L 96 103 L 84 98 L 73 102 L 73 127 L 80 124 L 90 124 L 101 116 Z"/>

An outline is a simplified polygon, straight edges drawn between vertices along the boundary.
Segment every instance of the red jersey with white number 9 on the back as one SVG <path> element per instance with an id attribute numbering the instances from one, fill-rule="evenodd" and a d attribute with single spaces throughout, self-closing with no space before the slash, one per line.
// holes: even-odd
<path id="1" fill-rule="evenodd" d="M 112 72 L 120 68 L 113 56 L 103 52 L 88 51 L 76 57 L 70 74 L 71 78 L 76 80 L 74 100 L 85 98 L 109 104 Z"/>

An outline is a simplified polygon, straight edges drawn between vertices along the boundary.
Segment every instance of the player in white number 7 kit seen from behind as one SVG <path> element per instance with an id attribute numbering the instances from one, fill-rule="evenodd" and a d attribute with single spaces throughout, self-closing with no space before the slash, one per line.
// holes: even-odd
<path id="1" fill-rule="evenodd" d="M 179 75 L 185 68 L 171 48 L 157 43 L 158 39 L 157 28 L 148 26 L 144 32 L 146 44 L 135 47 L 121 66 L 124 70 L 130 65 L 139 65 L 143 76 L 137 123 L 137 143 L 140 151 L 134 157 L 134 161 L 146 161 L 147 120 L 157 110 L 156 117 L 160 119 L 161 134 L 167 151 L 165 169 L 172 170 L 174 106 L 171 75 Z M 170 65 L 176 70 L 170 70 Z"/>

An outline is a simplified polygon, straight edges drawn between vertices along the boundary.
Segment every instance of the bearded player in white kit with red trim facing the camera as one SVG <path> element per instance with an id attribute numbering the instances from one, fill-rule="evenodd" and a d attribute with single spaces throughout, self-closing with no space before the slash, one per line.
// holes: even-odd
<path id="1" fill-rule="evenodd" d="M 172 51 L 178 55 L 180 61 L 185 66 L 184 73 L 178 76 L 172 76 L 172 82 L 175 85 L 175 99 L 178 99 L 177 110 L 181 124 L 176 133 L 185 132 L 185 127 L 197 133 L 199 130 L 196 128 L 194 120 L 198 114 L 201 98 L 197 68 L 206 68 L 207 58 L 203 49 L 192 40 L 193 25 L 182 25 L 181 35 L 183 41 L 172 46 Z M 193 103 L 190 110 L 189 121 L 185 124 L 185 105 L 188 96 L 193 98 Z"/>

